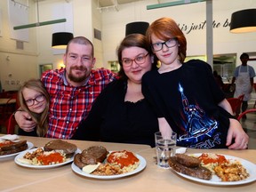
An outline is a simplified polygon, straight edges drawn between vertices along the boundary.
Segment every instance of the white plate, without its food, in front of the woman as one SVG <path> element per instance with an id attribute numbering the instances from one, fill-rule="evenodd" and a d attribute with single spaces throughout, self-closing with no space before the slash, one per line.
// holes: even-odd
<path id="1" fill-rule="evenodd" d="M 146 167 L 146 164 L 147 164 L 146 160 L 142 156 L 139 156 L 137 154 L 136 154 L 136 156 L 140 160 L 139 166 L 132 172 L 125 172 L 123 174 L 118 174 L 118 175 L 103 175 L 102 176 L 102 175 L 88 174 L 86 172 L 83 172 L 82 169 L 77 167 L 76 164 L 74 164 L 74 163 L 71 164 L 71 168 L 77 174 L 80 174 L 80 175 L 88 177 L 88 178 L 94 178 L 94 179 L 99 179 L 99 180 L 114 180 L 114 179 L 123 178 L 123 177 L 127 177 L 129 175 L 136 174 L 137 172 L 141 172 Z"/>

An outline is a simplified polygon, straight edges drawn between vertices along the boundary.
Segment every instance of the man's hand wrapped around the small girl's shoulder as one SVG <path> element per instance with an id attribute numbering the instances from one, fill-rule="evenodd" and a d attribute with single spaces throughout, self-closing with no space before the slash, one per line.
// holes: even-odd
<path id="1" fill-rule="evenodd" d="M 20 129 L 24 130 L 25 132 L 32 132 L 36 127 L 36 123 L 26 111 L 16 111 L 14 118 L 17 124 L 19 124 Z"/>

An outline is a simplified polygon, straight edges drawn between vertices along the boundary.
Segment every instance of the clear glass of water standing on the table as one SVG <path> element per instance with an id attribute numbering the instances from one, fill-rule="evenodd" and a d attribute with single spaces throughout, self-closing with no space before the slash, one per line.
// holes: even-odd
<path id="1" fill-rule="evenodd" d="M 170 156 L 175 156 L 176 140 L 176 132 L 171 132 L 170 136 L 164 137 L 161 132 L 155 133 L 156 160 L 159 167 L 169 168 L 168 159 Z"/>

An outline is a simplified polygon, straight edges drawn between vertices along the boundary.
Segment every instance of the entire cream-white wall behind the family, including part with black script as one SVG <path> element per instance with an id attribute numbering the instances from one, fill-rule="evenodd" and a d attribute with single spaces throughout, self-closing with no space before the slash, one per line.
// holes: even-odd
<path id="1" fill-rule="evenodd" d="M 8 0 L 9 1 L 9 0 Z M 20 0 L 21 1 L 21 0 Z M 27 0 L 24 0 L 27 2 Z M 36 4 L 29 0 L 31 12 L 29 22 L 36 22 Z M 97 0 L 45 0 L 39 1 L 40 21 L 54 20 L 52 6 L 72 4 L 74 36 L 86 36 L 94 44 L 95 68 L 110 68 L 108 60 L 116 60 L 116 46 L 124 38 L 125 25 L 133 21 L 152 21 L 161 17 L 172 17 L 180 28 L 199 25 L 206 20 L 205 2 L 196 4 L 184 4 L 174 7 L 147 10 L 147 5 L 158 4 L 157 0 L 143 0 L 131 4 L 119 5 L 119 11 L 100 12 L 97 9 Z M 213 20 L 220 22 L 218 28 L 213 29 L 213 54 L 256 52 L 256 33 L 231 34 L 229 27 L 223 27 L 225 21 L 232 12 L 248 8 L 256 8 L 255 0 L 212 0 Z M 52 63 L 53 68 L 60 68 L 62 53 L 52 53 L 52 25 L 38 28 L 29 28 L 29 42 L 24 43 L 24 50 L 16 50 L 16 42 L 10 39 L 8 24 L 7 0 L 0 1 L 0 80 L 5 90 L 18 89 L 19 84 L 12 83 L 14 80 L 23 82 L 31 77 L 39 77 L 38 66 Z M 63 10 L 60 9 L 60 12 Z M 59 24 L 56 24 L 59 25 Z M 69 26 L 70 27 L 70 26 Z M 101 31 L 102 41 L 93 38 L 93 28 Z M 188 33 L 184 29 L 188 40 L 188 56 L 206 54 L 206 29 L 196 29 Z M 10 60 L 6 57 L 10 56 Z M 256 66 L 255 61 L 252 61 Z M 240 60 L 236 60 L 236 65 Z M 12 74 L 12 76 L 9 76 Z"/>

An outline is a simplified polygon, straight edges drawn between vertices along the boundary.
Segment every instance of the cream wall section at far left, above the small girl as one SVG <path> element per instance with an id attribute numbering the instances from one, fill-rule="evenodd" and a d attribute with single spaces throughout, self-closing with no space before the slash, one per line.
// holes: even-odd
<path id="1" fill-rule="evenodd" d="M 38 55 L 35 28 L 28 29 L 28 42 L 24 42 L 24 49 L 16 49 L 16 40 L 11 38 L 8 1 L 0 1 L 0 81 L 5 91 L 17 90 L 28 78 L 37 77 Z M 29 7 L 35 7 L 34 1 L 29 1 Z M 33 8 L 29 12 L 31 15 L 35 15 Z M 35 21 L 35 17 L 29 17 L 29 22 Z"/>

